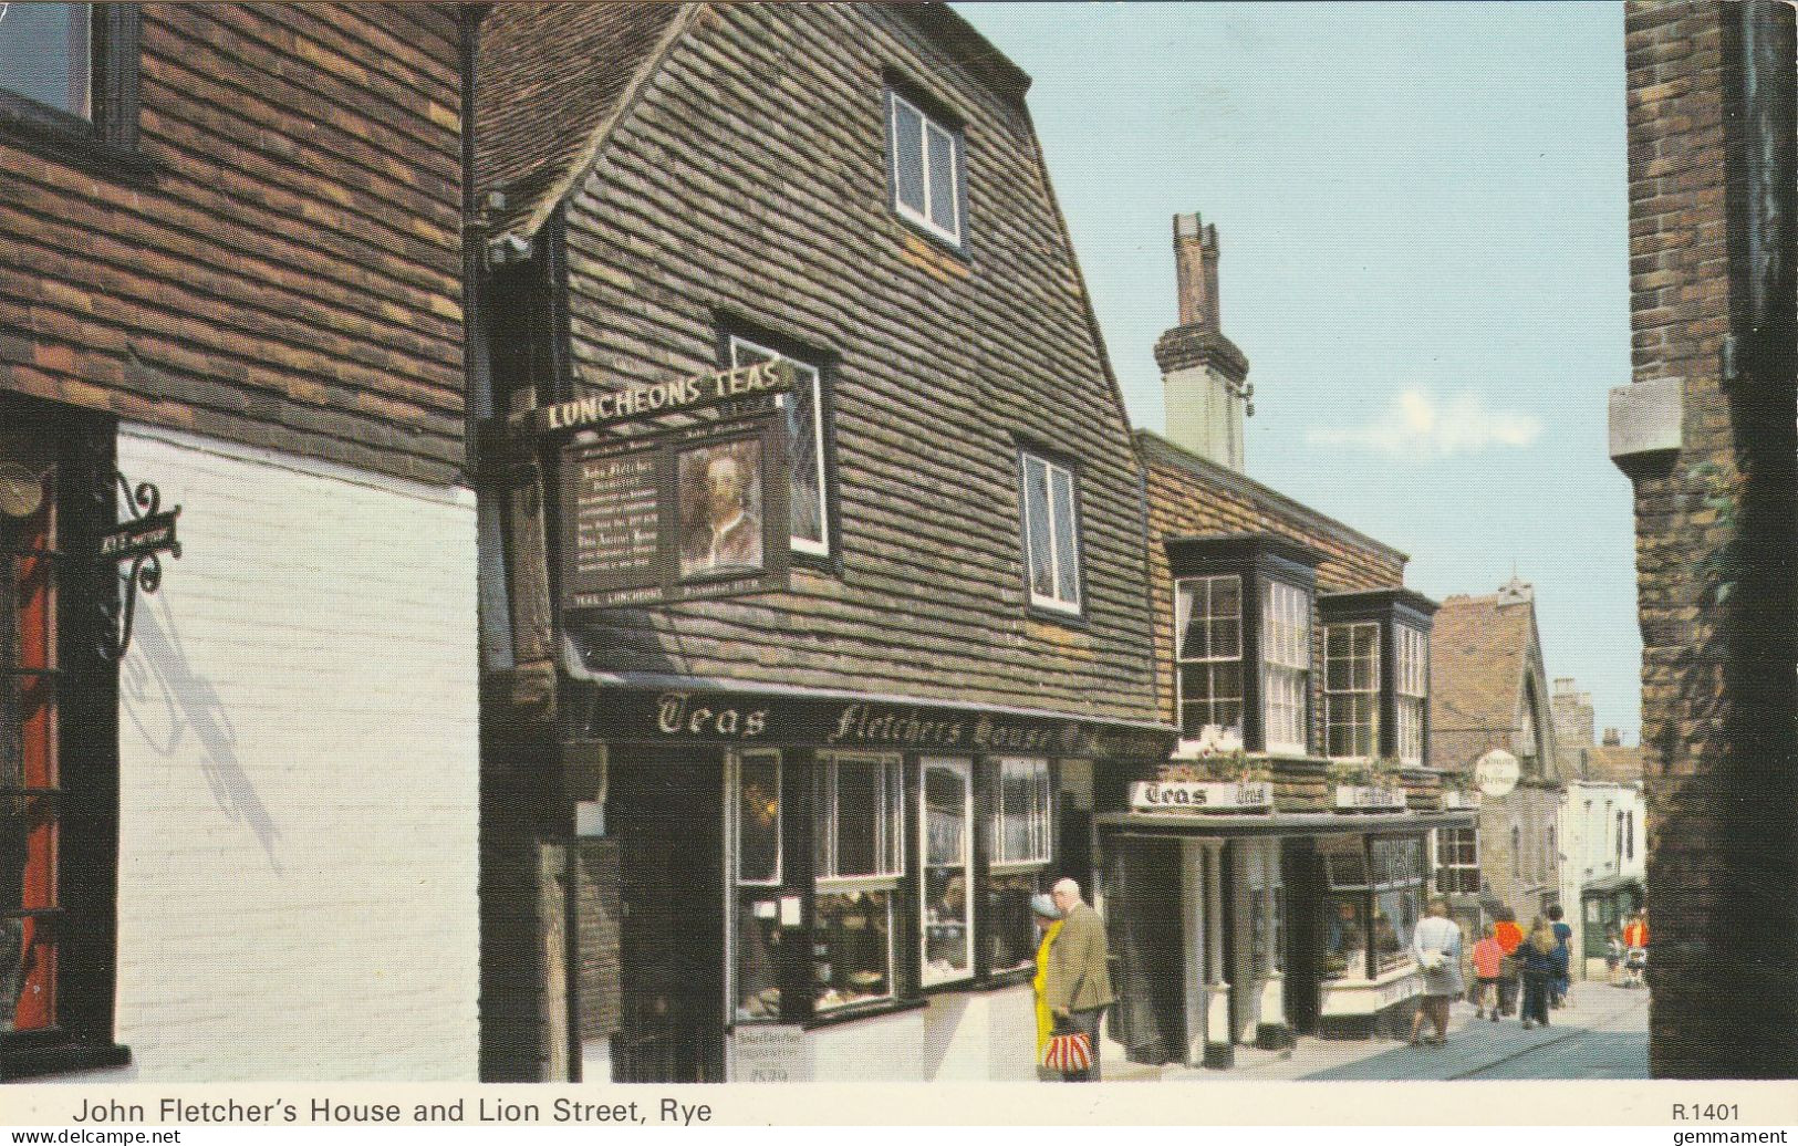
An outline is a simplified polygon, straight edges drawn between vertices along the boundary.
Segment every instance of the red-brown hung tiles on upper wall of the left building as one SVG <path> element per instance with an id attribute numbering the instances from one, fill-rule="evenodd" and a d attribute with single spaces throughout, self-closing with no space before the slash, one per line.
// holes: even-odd
<path id="1" fill-rule="evenodd" d="M 451 5 L 146 4 L 147 183 L 0 137 L 0 388 L 451 481 Z"/>

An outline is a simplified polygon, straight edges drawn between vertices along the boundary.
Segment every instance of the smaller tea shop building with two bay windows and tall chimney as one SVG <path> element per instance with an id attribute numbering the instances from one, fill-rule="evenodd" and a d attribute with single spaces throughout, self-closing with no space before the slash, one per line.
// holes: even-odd
<path id="1" fill-rule="evenodd" d="M 1406 557 L 1241 472 L 1248 361 L 1217 235 L 1174 219 L 1181 325 L 1156 347 L 1170 435 L 1136 435 L 1170 760 L 1108 772 L 1099 842 L 1135 1062 L 1410 1017 L 1426 832 L 1471 824 L 1424 771 L 1435 604 Z M 1113 1060 L 1115 1062 L 1115 1060 Z"/>

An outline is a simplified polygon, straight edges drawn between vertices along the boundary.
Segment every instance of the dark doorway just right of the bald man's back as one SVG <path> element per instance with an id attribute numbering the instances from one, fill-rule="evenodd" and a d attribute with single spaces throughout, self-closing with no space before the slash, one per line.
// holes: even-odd
<path id="1" fill-rule="evenodd" d="M 1178 839 L 1113 837 L 1106 857 L 1117 1040 L 1131 1062 L 1185 1062 L 1181 844 Z"/>

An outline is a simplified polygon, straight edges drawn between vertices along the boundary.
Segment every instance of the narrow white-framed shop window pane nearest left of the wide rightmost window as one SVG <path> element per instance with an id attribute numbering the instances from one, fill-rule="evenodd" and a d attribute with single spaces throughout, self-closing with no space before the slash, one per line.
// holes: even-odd
<path id="1" fill-rule="evenodd" d="M 919 842 L 924 857 L 922 981 L 935 986 L 975 974 L 973 763 L 926 756 L 919 772 L 919 807 L 924 812 Z"/>

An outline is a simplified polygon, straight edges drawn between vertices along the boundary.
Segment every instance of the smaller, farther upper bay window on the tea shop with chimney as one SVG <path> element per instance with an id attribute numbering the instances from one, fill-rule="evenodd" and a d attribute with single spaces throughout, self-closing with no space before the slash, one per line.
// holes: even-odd
<path id="1" fill-rule="evenodd" d="M 1429 625 L 1435 602 L 1410 589 L 1327 593 L 1323 751 L 1332 760 L 1428 758 Z"/>

